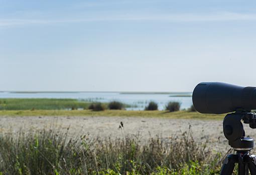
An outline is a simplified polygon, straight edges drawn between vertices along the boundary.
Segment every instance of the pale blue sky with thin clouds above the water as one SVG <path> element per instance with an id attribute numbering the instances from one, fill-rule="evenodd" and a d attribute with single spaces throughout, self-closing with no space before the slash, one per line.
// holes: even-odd
<path id="1" fill-rule="evenodd" d="M 0 91 L 256 86 L 255 1 L 0 0 Z"/>

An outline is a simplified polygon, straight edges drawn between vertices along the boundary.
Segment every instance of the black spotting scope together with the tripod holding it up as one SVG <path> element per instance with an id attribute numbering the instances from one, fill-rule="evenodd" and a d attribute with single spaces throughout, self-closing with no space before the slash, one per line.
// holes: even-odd
<path id="1" fill-rule="evenodd" d="M 199 83 L 192 95 L 193 105 L 200 113 L 228 113 L 223 119 L 223 133 L 236 154 L 228 154 L 220 175 L 231 175 L 238 163 L 238 174 L 256 175 L 256 155 L 249 151 L 254 146 L 252 138 L 245 137 L 243 123 L 256 128 L 256 87 L 242 87 L 220 82 Z M 232 112 L 232 113 L 229 113 Z"/>

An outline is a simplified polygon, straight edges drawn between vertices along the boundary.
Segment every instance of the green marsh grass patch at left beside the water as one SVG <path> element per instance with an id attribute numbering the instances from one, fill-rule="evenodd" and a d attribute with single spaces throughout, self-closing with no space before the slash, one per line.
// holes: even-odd
<path id="1" fill-rule="evenodd" d="M 47 99 L 47 98 L 1 98 L 0 110 L 53 110 L 88 108 L 89 102 L 76 99 Z"/>

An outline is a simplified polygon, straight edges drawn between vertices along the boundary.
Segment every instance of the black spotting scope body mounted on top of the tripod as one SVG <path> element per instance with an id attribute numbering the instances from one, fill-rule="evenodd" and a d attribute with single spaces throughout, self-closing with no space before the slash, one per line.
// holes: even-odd
<path id="1" fill-rule="evenodd" d="M 220 82 L 199 83 L 192 95 L 200 113 L 222 114 L 256 109 L 256 87 L 242 87 Z"/>

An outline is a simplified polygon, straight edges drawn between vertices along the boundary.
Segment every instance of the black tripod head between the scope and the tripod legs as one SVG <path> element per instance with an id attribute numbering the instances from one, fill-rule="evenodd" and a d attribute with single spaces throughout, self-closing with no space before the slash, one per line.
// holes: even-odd
<path id="1" fill-rule="evenodd" d="M 228 139 L 228 144 L 235 150 L 250 150 L 253 148 L 253 139 L 245 137 L 242 122 L 256 128 L 256 114 L 242 109 L 229 113 L 223 120 L 223 133 Z"/>

